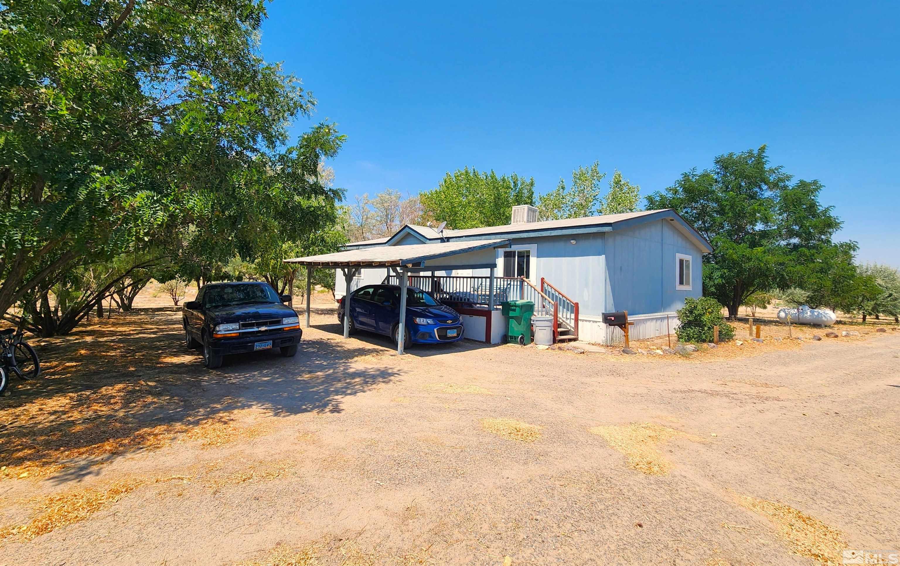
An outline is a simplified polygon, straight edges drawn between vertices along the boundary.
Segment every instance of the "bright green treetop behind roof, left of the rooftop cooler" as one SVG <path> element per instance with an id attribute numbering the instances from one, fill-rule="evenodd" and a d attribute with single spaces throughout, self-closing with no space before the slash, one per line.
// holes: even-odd
<path id="1" fill-rule="evenodd" d="M 498 176 L 465 167 L 447 173 L 437 188 L 419 193 L 423 214 L 447 228 L 467 229 L 509 224 L 512 207 L 535 203 L 535 179 Z"/>

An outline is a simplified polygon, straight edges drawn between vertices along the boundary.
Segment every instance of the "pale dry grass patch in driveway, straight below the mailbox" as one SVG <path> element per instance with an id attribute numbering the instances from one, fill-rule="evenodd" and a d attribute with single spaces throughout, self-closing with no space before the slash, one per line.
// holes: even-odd
<path id="1" fill-rule="evenodd" d="M 662 455 L 659 446 L 672 438 L 706 442 L 699 436 L 653 423 L 593 427 L 588 432 L 602 436 L 610 448 L 625 454 L 629 468 L 649 475 L 666 475 L 671 470 L 672 463 Z"/>

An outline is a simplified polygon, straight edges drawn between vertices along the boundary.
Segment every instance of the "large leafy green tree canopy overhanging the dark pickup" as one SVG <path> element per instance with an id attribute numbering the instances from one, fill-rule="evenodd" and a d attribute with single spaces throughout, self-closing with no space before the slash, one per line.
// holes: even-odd
<path id="1" fill-rule="evenodd" d="M 211 265 L 333 224 L 318 169 L 343 137 L 290 144 L 315 100 L 261 57 L 265 18 L 260 0 L 4 2 L 0 312 L 125 251 Z"/>

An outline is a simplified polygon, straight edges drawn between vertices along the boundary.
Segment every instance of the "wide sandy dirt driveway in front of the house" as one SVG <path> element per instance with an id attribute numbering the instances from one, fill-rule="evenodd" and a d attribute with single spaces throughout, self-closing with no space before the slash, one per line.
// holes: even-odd
<path id="1" fill-rule="evenodd" d="M 44 341 L 46 379 L 0 400 L 0 563 L 900 548 L 897 333 L 706 363 L 472 342 L 397 356 L 343 340 L 323 307 L 296 357 L 204 371 L 178 324 L 143 310 Z"/>

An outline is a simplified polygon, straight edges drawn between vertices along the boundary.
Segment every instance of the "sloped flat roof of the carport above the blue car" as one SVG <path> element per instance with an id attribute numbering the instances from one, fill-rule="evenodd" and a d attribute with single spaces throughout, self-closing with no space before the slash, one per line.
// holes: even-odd
<path id="1" fill-rule="evenodd" d="M 429 259 L 455 256 L 479 249 L 502 247 L 509 239 L 489 239 L 439 244 L 417 244 L 414 246 L 374 246 L 350 249 L 334 254 L 295 257 L 285 259 L 286 264 L 311 265 L 315 267 L 419 267 Z"/>

